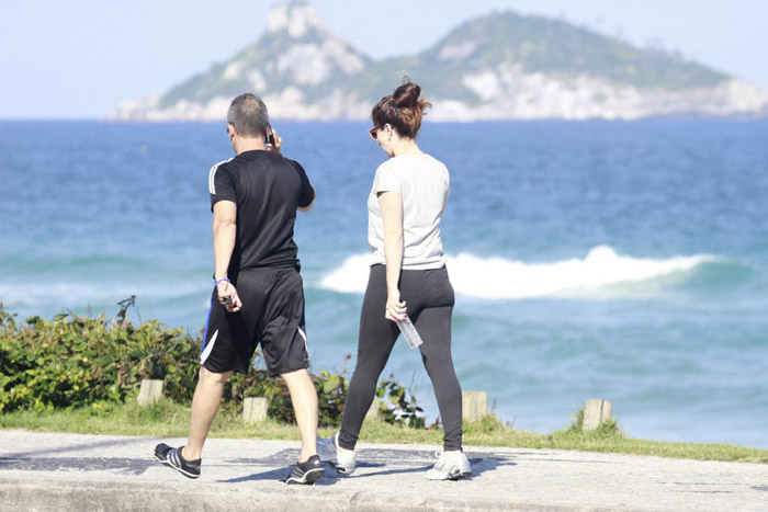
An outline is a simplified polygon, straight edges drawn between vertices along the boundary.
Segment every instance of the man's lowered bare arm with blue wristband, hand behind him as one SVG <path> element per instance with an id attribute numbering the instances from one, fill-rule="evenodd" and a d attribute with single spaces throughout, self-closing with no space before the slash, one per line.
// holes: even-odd
<path id="1" fill-rule="evenodd" d="M 214 280 L 218 281 L 228 277 L 229 261 L 235 250 L 235 239 L 237 238 L 237 205 L 231 201 L 219 201 L 213 205 L 213 261 Z M 237 296 L 235 286 L 222 281 L 216 285 L 218 300 L 224 304 L 229 311 L 238 311 L 242 306 L 240 297 Z M 225 297 L 229 297 L 226 301 Z"/>

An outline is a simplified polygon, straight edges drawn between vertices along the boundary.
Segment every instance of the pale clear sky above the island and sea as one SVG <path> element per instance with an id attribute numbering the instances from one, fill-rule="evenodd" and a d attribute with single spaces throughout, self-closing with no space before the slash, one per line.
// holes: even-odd
<path id="1" fill-rule="evenodd" d="M 0 120 L 101 118 L 256 42 L 274 0 L 0 0 Z M 375 59 L 493 11 L 557 18 L 678 52 L 768 90 L 768 0 L 312 0 Z"/>

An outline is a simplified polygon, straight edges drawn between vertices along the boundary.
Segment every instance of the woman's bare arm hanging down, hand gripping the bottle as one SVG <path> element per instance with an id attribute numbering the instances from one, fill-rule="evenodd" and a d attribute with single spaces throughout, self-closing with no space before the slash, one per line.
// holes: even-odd
<path id="1" fill-rule="evenodd" d="M 384 259 L 386 261 L 387 320 L 403 320 L 406 311 L 400 301 L 399 280 L 403 266 L 403 196 L 397 192 L 380 192 L 379 205 L 384 220 Z"/>

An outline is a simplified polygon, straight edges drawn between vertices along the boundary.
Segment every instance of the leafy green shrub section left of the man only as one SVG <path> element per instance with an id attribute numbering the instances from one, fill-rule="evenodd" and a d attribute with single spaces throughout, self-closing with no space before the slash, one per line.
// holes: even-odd
<path id="1" fill-rule="evenodd" d="M 0 411 L 123 402 L 144 378 L 163 379 L 168 398 L 189 400 L 197 353 L 197 340 L 157 320 L 135 327 L 68 312 L 20 327 L 0 304 Z"/>

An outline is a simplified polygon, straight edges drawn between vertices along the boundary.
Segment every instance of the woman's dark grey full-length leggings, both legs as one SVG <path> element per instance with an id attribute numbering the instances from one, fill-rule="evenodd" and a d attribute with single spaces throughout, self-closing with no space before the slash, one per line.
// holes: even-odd
<path id="1" fill-rule="evenodd" d="M 400 300 L 421 335 L 421 361 L 432 380 L 444 429 L 443 450 L 461 450 L 462 395 L 451 357 L 451 315 L 453 286 L 445 268 L 404 270 L 400 273 Z M 395 340 L 397 326 L 384 318 L 386 306 L 386 268 L 373 265 L 360 314 L 358 362 L 347 390 L 347 405 L 339 433 L 339 445 L 354 450 L 360 429 L 376 391 Z"/>

